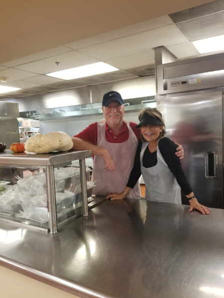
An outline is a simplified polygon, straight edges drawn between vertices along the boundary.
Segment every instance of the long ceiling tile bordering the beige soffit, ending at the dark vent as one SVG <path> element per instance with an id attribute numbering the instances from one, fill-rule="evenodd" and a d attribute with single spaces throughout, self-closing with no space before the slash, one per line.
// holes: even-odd
<path id="1" fill-rule="evenodd" d="M 162 27 L 165 25 L 172 24 L 173 21 L 168 15 L 160 16 L 157 18 L 153 18 L 144 22 L 140 22 L 131 26 L 126 26 L 117 30 L 112 30 L 104 34 L 99 34 L 93 37 L 85 38 L 82 40 L 75 41 L 73 43 L 67 44 L 66 46 L 76 50 L 92 45 L 96 45 L 99 43 L 103 43 L 106 41 L 110 41 L 113 39 L 117 39 L 120 37 L 124 37 L 127 35 L 133 35 L 135 33 L 139 33 L 142 31 Z"/>

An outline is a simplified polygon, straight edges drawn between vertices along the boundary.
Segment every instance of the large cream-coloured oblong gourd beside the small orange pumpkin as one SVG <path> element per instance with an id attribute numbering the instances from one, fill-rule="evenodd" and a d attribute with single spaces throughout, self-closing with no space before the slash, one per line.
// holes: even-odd
<path id="1" fill-rule="evenodd" d="M 34 153 L 49 153 L 54 150 L 68 151 L 72 147 L 72 138 L 63 132 L 37 134 L 30 137 L 25 143 L 25 150 Z"/>

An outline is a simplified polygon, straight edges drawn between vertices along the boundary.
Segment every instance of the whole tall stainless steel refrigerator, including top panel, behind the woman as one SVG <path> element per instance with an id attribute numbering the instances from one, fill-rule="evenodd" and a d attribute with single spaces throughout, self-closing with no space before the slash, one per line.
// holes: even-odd
<path id="1" fill-rule="evenodd" d="M 223 66 L 219 54 L 163 65 L 160 76 L 167 137 L 184 147 L 188 181 L 200 203 L 212 208 L 224 208 Z"/>

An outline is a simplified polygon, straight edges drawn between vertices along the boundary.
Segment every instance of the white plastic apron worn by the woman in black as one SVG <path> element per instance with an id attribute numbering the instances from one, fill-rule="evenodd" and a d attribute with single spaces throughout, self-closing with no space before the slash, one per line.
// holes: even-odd
<path id="1" fill-rule="evenodd" d="M 141 173 L 145 182 L 145 199 L 165 203 L 181 204 L 180 186 L 163 159 L 157 146 L 157 164 L 145 168 L 142 164 L 144 151 L 148 142 L 142 144 L 140 153 Z"/>

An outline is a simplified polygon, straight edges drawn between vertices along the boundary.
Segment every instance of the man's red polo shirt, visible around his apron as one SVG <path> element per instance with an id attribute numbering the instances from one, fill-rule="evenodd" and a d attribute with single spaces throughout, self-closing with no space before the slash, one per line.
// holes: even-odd
<path id="1" fill-rule="evenodd" d="M 140 129 L 136 128 L 136 124 L 130 122 L 130 128 L 134 132 L 137 140 L 139 141 L 140 138 Z M 128 127 L 125 122 L 123 122 L 123 129 L 119 133 L 118 136 L 115 136 L 110 129 L 110 127 L 106 123 L 106 132 L 105 132 L 106 140 L 109 143 L 123 143 L 127 141 L 129 137 Z M 87 128 L 85 128 L 82 132 L 74 137 L 80 138 L 83 141 L 90 142 L 94 145 L 97 145 L 97 122 L 90 124 Z"/>

